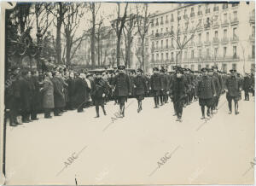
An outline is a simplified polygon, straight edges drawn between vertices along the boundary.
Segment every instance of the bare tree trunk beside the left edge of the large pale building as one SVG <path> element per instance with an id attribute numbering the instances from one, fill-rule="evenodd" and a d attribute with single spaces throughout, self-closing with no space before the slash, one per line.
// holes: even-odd
<path id="1" fill-rule="evenodd" d="M 145 70 L 145 38 L 148 34 L 148 27 L 150 25 L 148 12 L 148 3 L 143 5 L 137 4 L 137 32 L 141 38 L 141 51 L 140 55 L 142 56 L 141 67 Z"/>

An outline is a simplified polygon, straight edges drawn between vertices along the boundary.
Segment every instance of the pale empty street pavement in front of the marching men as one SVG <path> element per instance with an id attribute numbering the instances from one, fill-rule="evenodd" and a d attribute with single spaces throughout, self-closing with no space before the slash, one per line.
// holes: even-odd
<path id="1" fill-rule="evenodd" d="M 106 107 L 99 119 L 88 108 L 8 126 L 6 184 L 253 183 L 254 97 L 229 115 L 222 96 L 206 121 L 193 102 L 183 123 L 172 116 L 172 103 L 154 109 L 153 98 L 139 114 L 129 99 L 124 119 L 114 116 L 118 105 Z"/>

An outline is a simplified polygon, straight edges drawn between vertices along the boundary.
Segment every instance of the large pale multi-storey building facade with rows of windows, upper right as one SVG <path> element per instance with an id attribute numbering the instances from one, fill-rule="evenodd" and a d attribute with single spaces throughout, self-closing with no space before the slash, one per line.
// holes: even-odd
<path id="1" fill-rule="evenodd" d="M 228 72 L 254 70 L 254 3 L 179 3 L 151 16 L 148 63 L 201 70 L 217 65 Z"/>

